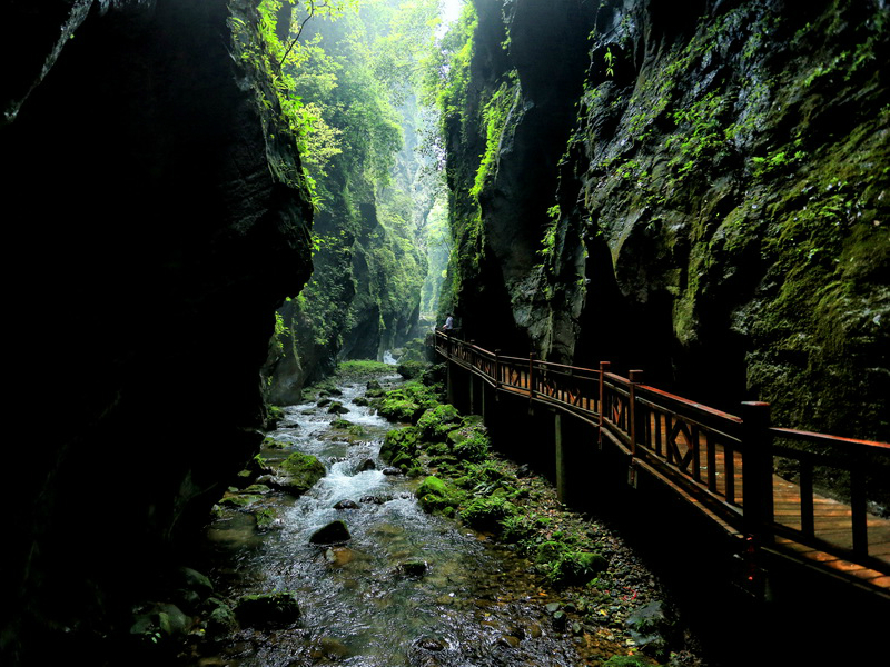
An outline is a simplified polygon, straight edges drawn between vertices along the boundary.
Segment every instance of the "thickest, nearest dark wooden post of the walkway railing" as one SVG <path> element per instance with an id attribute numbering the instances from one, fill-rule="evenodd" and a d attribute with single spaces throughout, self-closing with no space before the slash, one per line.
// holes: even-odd
<path id="1" fill-rule="evenodd" d="M 770 404 L 742 404 L 742 510 L 745 529 L 761 544 L 772 541 L 772 435 Z"/>

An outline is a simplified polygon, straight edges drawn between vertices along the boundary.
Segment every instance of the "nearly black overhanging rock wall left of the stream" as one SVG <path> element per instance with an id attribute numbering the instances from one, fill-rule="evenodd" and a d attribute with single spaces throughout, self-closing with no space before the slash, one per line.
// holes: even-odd
<path id="1" fill-rule="evenodd" d="M 43 434 L 33 455 L 33 434 L 14 438 L 7 464 L 4 664 L 126 623 L 117 605 L 204 521 L 258 448 L 274 311 L 310 266 L 310 209 L 267 162 L 298 156 L 264 136 L 228 2 L 24 4 L 4 16 L 22 63 L 46 56 L 30 30 L 61 29 L 63 48 L 0 128 L 13 381 L 29 404 L 12 412 L 38 409 L 28 427 Z"/>

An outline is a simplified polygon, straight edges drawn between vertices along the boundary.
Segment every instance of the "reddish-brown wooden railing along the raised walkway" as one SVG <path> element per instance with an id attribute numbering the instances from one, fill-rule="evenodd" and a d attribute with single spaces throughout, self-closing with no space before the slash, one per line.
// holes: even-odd
<path id="1" fill-rule="evenodd" d="M 890 574 L 890 555 L 870 552 L 869 524 L 874 521 L 867 511 L 864 490 L 864 461 L 890 456 L 888 444 L 772 427 L 765 402 L 743 402 L 740 416 L 729 415 L 644 385 L 642 371 L 632 370 L 626 378 L 613 374 L 605 361 L 599 369 L 589 369 L 534 356 L 505 357 L 441 332 L 436 350 L 496 390 L 594 425 L 600 447 L 611 441 L 627 455 L 629 480 L 634 479 L 635 469 L 646 469 L 740 537 L 771 544 L 775 536 L 784 536 Z M 825 451 L 803 449 L 801 442 Z M 785 510 L 775 516 L 777 502 L 783 508 L 788 502 L 774 488 L 777 457 L 797 461 L 798 516 Z M 850 530 L 846 535 L 838 529 L 819 534 L 813 490 L 813 470 L 819 466 L 831 466 L 849 477 Z M 884 520 L 877 529 L 890 530 L 890 522 Z M 881 540 L 890 540 L 890 532 Z"/>

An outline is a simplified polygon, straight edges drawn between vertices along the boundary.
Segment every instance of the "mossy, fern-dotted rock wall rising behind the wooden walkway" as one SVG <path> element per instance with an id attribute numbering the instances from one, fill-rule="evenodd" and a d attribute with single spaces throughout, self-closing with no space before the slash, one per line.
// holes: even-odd
<path id="1" fill-rule="evenodd" d="M 886 3 L 474 4 L 445 126 L 467 337 L 890 438 Z"/>

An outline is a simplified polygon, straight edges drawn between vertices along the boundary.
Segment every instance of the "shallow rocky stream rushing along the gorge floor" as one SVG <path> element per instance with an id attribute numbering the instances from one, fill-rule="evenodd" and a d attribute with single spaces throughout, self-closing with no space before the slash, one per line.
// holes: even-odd
<path id="1" fill-rule="evenodd" d="M 208 534 L 224 595 L 293 591 L 300 623 L 246 628 L 204 664 L 583 664 L 553 627 L 544 609 L 548 600 L 527 563 L 454 520 L 425 514 L 413 495 L 417 480 L 382 471 L 379 445 L 393 425 L 354 402 L 364 385 L 342 389 L 337 400 L 349 409 L 344 418 L 360 424 L 367 437 L 337 440 L 330 436 L 334 416 L 325 409 L 287 408 L 273 436 L 318 457 L 326 477 L 296 501 L 285 495 L 267 499 L 276 529 L 258 534 L 250 515 L 231 511 Z M 375 469 L 358 471 L 367 459 Z M 335 509 L 346 499 L 358 507 Z M 335 519 L 347 524 L 352 540 L 343 547 L 312 545 L 312 534 Z"/>

